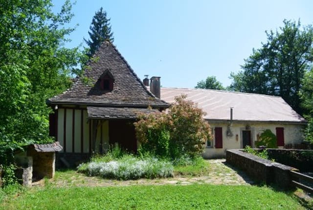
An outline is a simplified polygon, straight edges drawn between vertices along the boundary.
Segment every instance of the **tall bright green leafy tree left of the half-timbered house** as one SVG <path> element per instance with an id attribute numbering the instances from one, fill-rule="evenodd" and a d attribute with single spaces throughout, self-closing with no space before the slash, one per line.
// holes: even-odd
<path id="1" fill-rule="evenodd" d="M 73 31 L 66 27 L 69 0 L 57 14 L 51 0 L 0 5 L 0 162 L 6 163 L 15 148 L 52 141 L 45 100 L 69 87 L 80 53 L 63 46 Z"/>

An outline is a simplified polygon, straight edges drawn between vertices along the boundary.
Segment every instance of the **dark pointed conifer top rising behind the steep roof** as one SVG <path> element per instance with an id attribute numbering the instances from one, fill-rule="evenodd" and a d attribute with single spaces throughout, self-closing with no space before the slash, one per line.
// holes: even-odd
<path id="1" fill-rule="evenodd" d="M 89 45 L 89 52 L 87 53 L 89 57 L 94 54 L 103 41 L 114 41 L 110 20 L 110 18 L 107 18 L 107 12 L 103 11 L 102 7 L 93 16 L 89 27 L 90 31 L 88 32 L 90 40 L 84 39 Z"/>

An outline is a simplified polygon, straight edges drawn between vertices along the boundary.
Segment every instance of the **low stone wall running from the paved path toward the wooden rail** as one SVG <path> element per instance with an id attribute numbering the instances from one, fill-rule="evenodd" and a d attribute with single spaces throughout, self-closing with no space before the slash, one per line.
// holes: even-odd
<path id="1" fill-rule="evenodd" d="M 248 175 L 258 181 L 265 182 L 266 184 L 275 183 L 284 189 L 291 188 L 290 170 L 298 170 L 262 159 L 250 153 L 243 152 L 241 149 L 226 150 L 226 162 L 244 170 Z"/>

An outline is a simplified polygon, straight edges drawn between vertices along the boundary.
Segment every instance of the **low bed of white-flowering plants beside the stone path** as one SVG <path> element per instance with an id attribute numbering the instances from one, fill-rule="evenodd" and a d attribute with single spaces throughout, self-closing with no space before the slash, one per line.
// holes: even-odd
<path id="1" fill-rule="evenodd" d="M 140 159 L 133 155 L 124 155 L 110 162 L 90 162 L 79 166 L 78 171 L 89 176 L 123 180 L 173 176 L 173 166 L 170 162 L 156 158 Z"/>

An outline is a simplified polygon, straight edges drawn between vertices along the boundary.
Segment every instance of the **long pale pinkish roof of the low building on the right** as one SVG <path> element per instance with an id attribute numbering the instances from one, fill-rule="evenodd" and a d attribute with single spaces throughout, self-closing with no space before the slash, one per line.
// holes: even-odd
<path id="1" fill-rule="evenodd" d="M 209 89 L 161 87 L 161 99 L 173 103 L 175 96 L 187 95 L 187 100 L 198 104 L 206 112 L 204 119 L 229 120 L 233 107 L 234 121 L 286 122 L 305 124 L 281 97 L 261 94 L 229 92 Z"/>

